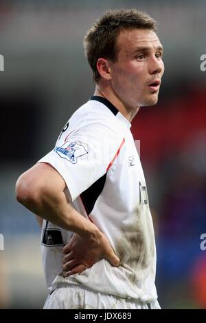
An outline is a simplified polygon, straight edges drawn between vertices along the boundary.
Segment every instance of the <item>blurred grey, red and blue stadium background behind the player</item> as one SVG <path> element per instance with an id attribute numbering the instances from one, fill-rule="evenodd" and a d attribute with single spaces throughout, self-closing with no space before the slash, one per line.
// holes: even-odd
<path id="1" fill-rule="evenodd" d="M 14 197 L 19 175 L 54 147 L 62 126 L 93 94 L 82 37 L 102 12 L 139 8 L 159 21 L 165 75 L 155 107 L 133 121 L 141 140 L 157 237 L 164 309 L 206 308 L 205 1 L 0 1 L 0 307 L 41 309 L 47 289 L 32 213 Z"/>

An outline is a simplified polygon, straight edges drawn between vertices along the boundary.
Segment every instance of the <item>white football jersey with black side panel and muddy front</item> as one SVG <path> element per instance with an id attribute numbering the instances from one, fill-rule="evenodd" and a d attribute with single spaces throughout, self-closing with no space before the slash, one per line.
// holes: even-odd
<path id="1" fill-rule="evenodd" d="M 44 221 L 42 255 L 49 289 L 77 284 L 94 291 L 157 299 L 156 249 L 144 173 L 128 120 L 108 101 L 92 96 L 69 119 L 56 147 L 39 162 L 49 163 L 67 183 L 73 207 L 102 231 L 119 256 L 63 278 L 62 247 L 71 231 Z"/>

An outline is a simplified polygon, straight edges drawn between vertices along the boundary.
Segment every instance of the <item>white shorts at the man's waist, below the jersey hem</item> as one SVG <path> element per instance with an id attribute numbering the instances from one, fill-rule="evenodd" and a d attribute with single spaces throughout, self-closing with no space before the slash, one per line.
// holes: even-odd
<path id="1" fill-rule="evenodd" d="M 157 300 L 148 304 L 65 284 L 48 296 L 44 309 L 160 309 L 160 306 Z"/>

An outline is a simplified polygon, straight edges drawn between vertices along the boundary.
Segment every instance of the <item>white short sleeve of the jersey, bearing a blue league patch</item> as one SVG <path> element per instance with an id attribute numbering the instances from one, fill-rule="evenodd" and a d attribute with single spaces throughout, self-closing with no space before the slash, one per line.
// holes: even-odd
<path id="1" fill-rule="evenodd" d="M 71 134 L 69 134 L 71 132 Z M 71 200 L 101 178 L 124 143 L 115 123 L 93 123 L 61 136 L 38 163 L 49 163 L 64 178 Z"/>

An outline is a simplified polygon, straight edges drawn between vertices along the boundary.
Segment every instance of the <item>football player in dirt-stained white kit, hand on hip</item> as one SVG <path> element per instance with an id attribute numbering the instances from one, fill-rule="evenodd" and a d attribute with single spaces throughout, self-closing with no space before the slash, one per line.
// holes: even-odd
<path id="1" fill-rule="evenodd" d="M 94 96 L 16 183 L 17 200 L 45 219 L 45 309 L 159 309 L 155 236 L 130 132 L 139 107 L 158 100 L 164 67 L 155 31 L 137 10 L 106 12 L 93 25 L 84 49 Z"/>

